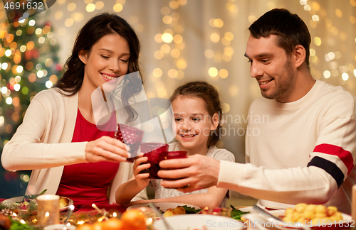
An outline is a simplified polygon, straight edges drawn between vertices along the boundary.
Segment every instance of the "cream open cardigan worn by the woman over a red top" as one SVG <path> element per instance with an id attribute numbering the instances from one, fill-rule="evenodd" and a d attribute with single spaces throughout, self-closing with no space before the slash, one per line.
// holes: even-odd
<path id="1" fill-rule="evenodd" d="M 36 94 L 26 110 L 23 123 L 4 146 L 1 163 L 6 170 L 33 170 L 26 194 L 48 189 L 56 194 L 64 165 L 87 163 L 87 142 L 71 143 L 78 111 L 78 94 L 63 96 L 56 89 Z M 109 192 L 109 204 L 115 191 L 132 177 L 132 164 L 120 163 Z M 143 190 L 137 198 L 147 199 Z"/>

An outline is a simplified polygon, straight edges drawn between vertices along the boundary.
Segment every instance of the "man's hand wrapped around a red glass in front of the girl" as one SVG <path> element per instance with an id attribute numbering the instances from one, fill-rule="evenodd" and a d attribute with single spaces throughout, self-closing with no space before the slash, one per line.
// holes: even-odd
<path id="1" fill-rule="evenodd" d="M 159 163 L 162 170 L 158 176 L 163 187 L 175 188 L 181 192 L 192 192 L 216 185 L 219 178 L 220 162 L 205 155 L 190 155 L 184 159 L 162 160 Z M 164 170 L 164 168 L 178 168 Z"/>

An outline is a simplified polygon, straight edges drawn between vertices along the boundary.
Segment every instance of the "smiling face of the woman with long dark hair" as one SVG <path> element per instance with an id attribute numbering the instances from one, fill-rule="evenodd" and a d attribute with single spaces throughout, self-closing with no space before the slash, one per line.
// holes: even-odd
<path id="1" fill-rule="evenodd" d="M 81 50 L 80 60 L 85 64 L 82 87 L 93 91 L 111 80 L 118 84 L 127 73 L 130 58 L 130 47 L 125 38 L 110 34 L 100 38 L 93 45 L 90 53 Z M 119 79 L 117 79 L 120 77 Z"/>

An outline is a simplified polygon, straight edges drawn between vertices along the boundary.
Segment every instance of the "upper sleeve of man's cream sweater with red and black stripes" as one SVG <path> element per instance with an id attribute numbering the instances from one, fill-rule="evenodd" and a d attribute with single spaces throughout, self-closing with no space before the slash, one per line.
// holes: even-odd
<path id="1" fill-rule="evenodd" d="M 318 140 L 310 154 L 308 167 L 323 169 L 340 187 L 355 165 L 356 121 L 355 104 L 338 101 L 320 119 Z"/>

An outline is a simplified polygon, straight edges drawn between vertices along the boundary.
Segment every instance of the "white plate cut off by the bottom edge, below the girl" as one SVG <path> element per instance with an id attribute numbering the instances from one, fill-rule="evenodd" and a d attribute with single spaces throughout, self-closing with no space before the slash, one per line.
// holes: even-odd
<path id="1" fill-rule="evenodd" d="M 213 215 L 178 215 L 166 218 L 174 230 L 185 230 L 189 227 L 192 229 L 203 229 L 206 226 L 209 230 L 239 230 L 243 229 L 243 222 L 236 221 L 229 217 L 220 217 Z M 155 230 L 165 230 L 162 219 L 155 221 L 153 224 Z"/>

